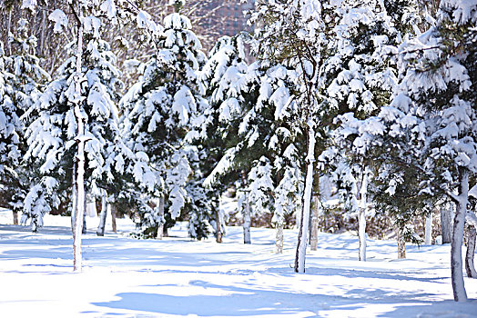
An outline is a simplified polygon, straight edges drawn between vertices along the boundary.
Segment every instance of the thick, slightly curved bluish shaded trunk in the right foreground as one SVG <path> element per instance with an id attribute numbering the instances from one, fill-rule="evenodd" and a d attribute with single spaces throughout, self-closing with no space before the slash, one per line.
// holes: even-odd
<path id="1" fill-rule="evenodd" d="M 465 293 L 465 286 L 463 283 L 462 243 L 465 214 L 467 213 L 469 199 L 469 172 L 467 169 L 460 167 L 459 174 L 459 197 L 455 209 L 451 243 L 451 273 L 454 300 L 456 302 L 465 302 L 467 301 L 467 293 Z"/>

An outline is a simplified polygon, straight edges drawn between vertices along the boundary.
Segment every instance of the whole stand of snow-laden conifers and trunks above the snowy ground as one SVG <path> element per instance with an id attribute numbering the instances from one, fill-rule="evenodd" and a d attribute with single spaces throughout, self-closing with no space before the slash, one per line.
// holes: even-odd
<path id="1" fill-rule="evenodd" d="M 400 257 L 405 242 L 451 243 L 466 300 L 477 1 L 258 0 L 253 31 L 222 37 L 188 18 L 197 5 L 2 3 L 0 205 L 15 223 L 71 215 L 76 270 L 91 202 L 100 235 L 112 210 L 141 238 L 177 220 L 217 242 L 226 224 L 244 243 L 274 227 L 281 253 L 298 226 L 298 273 L 319 230 L 356 231 L 361 261 L 367 234 L 395 235 Z"/>

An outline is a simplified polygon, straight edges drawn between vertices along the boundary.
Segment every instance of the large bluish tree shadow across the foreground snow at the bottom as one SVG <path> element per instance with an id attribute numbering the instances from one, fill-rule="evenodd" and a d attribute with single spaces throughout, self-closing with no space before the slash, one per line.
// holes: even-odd
<path id="1" fill-rule="evenodd" d="M 350 313 L 366 311 L 367 306 L 390 308 L 378 317 L 421 317 L 431 318 L 472 317 L 477 303 L 469 302 L 464 306 L 452 301 L 431 302 L 417 299 L 431 299 L 431 293 L 396 293 L 376 289 L 353 289 L 342 295 L 318 293 L 299 293 L 287 290 L 264 290 L 253 283 L 244 283 L 245 287 L 225 286 L 204 281 L 191 281 L 184 286 L 184 294 L 164 293 L 117 293 L 120 299 L 104 303 L 92 303 L 107 308 L 110 313 L 121 314 L 122 310 L 149 314 L 177 314 L 198 316 L 300 316 L 300 317 L 346 317 Z M 157 287 L 176 286 L 158 284 Z M 201 294 L 191 294 L 190 286 L 203 287 Z M 154 286 L 148 286 L 154 287 Z M 343 287 L 343 286 L 342 286 Z M 344 287 L 343 287 L 344 288 Z M 115 312 L 115 310 L 119 310 Z M 382 312 L 382 310 L 381 310 Z M 352 316 L 370 317 L 357 313 Z M 449 315 L 445 315 L 445 314 Z M 444 314 L 444 315 L 440 315 Z"/>

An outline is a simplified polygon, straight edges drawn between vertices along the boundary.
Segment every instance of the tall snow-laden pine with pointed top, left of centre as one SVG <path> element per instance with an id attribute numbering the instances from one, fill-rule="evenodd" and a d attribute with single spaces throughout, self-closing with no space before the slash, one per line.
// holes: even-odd
<path id="1" fill-rule="evenodd" d="M 144 179 L 142 173 L 136 175 L 142 168 L 133 169 L 137 183 L 147 189 L 143 201 L 149 205 L 142 205 L 139 225 L 149 232 L 164 224 L 162 211 L 174 222 L 190 200 L 186 185 L 192 171 L 185 138 L 207 105 L 198 80 L 205 55 L 188 17 L 176 12 L 166 16 L 164 25 L 155 38 L 157 53 L 139 66 L 142 75 L 120 102 L 125 111 L 123 134 L 131 150 L 153 170 Z"/>

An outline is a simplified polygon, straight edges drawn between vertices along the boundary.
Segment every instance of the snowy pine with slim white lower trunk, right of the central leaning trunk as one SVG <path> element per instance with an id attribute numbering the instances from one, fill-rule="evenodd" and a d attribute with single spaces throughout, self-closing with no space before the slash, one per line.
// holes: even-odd
<path id="1" fill-rule="evenodd" d="M 321 89 L 330 111 L 343 114 L 330 124 L 330 154 L 322 162 L 335 165 L 335 182 L 348 216 L 358 216 L 360 261 L 366 260 L 367 194 L 372 158 L 366 131 L 372 126 L 355 121 L 378 114 L 390 103 L 397 84 L 397 68 L 392 55 L 401 44 L 402 33 L 420 22 L 405 1 L 345 0 L 337 7 L 338 23 L 330 36 L 330 54 L 322 66 Z M 388 13 L 391 10 L 391 13 Z M 394 12 L 392 12 L 394 11 Z M 399 11 L 399 12 L 396 12 Z M 396 21 L 392 18 L 399 18 Z M 396 27 L 400 25 L 400 27 Z M 339 124 L 336 126 L 336 124 Z M 333 163 L 330 163 L 334 162 Z"/>

